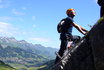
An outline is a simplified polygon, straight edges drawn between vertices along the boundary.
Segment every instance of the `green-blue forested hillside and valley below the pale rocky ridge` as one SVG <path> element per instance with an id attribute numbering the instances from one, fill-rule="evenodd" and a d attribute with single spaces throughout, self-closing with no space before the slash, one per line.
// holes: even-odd
<path id="1" fill-rule="evenodd" d="M 0 46 L 0 60 L 13 67 L 37 67 L 48 61 L 47 57 L 35 53 L 27 52 L 17 47 Z"/>

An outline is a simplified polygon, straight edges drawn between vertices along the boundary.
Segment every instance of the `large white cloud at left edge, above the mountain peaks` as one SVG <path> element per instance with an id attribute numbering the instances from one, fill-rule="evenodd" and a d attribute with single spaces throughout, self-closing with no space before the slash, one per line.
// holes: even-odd
<path id="1" fill-rule="evenodd" d="M 13 26 L 10 23 L 0 22 L 0 36 L 9 36 L 9 37 L 29 36 L 30 37 L 31 35 L 33 35 L 33 31 L 31 32 L 31 31 L 22 30 L 21 28 Z"/>

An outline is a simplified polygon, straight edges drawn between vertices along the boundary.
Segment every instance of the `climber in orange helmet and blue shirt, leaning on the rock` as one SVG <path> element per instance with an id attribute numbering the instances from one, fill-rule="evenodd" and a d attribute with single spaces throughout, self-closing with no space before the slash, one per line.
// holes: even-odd
<path id="1" fill-rule="evenodd" d="M 61 24 L 61 29 L 59 26 L 57 27 L 58 32 L 60 33 L 60 40 L 61 40 L 61 45 L 60 49 L 58 51 L 58 54 L 62 57 L 64 54 L 64 51 L 67 48 L 68 41 L 79 41 L 80 36 L 74 36 L 72 35 L 72 29 L 75 27 L 79 32 L 82 34 L 86 34 L 88 31 L 84 29 L 83 27 L 79 26 L 78 24 L 74 23 L 73 18 L 76 15 L 76 12 L 73 8 L 70 8 L 66 11 L 67 17 L 62 19 L 60 24 Z M 55 60 L 55 64 L 60 60 L 60 58 L 57 56 Z"/>

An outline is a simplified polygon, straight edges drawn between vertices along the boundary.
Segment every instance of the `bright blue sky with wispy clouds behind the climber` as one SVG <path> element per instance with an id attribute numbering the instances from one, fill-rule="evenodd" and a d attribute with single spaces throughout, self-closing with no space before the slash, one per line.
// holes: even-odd
<path id="1" fill-rule="evenodd" d="M 74 8 L 74 21 L 90 30 L 99 19 L 96 0 L 0 0 L 0 36 L 59 48 L 56 27 L 66 10 Z M 74 35 L 81 35 L 76 29 Z"/>

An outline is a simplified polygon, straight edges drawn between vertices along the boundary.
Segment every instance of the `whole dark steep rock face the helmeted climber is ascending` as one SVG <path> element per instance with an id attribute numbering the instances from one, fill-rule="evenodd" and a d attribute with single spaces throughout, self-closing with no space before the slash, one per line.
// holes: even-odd
<path id="1" fill-rule="evenodd" d="M 69 54 L 51 70 L 104 70 L 104 17 Z"/>

